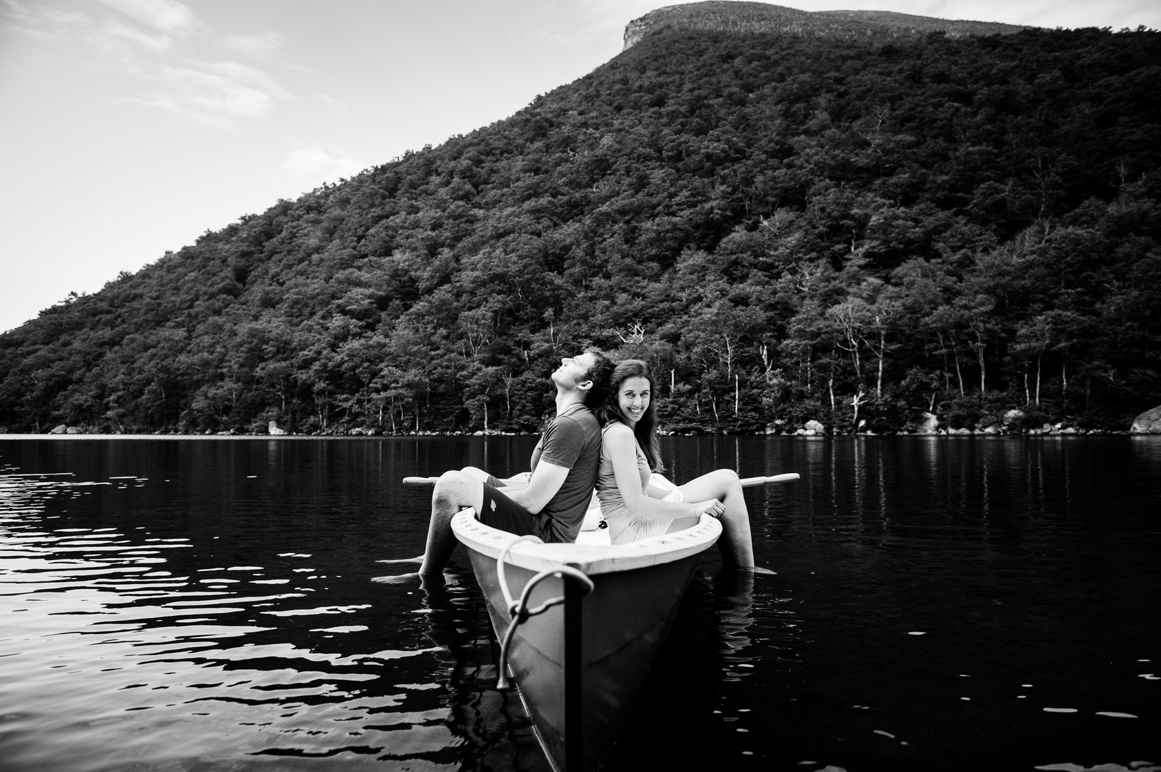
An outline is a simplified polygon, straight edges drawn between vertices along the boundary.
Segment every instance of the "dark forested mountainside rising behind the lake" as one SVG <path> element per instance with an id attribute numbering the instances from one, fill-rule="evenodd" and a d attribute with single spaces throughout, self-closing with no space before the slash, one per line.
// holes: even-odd
<path id="1" fill-rule="evenodd" d="M 1159 158 L 1154 31 L 665 29 L 0 336 L 0 426 L 535 431 L 592 342 L 678 432 L 1124 430 Z"/>

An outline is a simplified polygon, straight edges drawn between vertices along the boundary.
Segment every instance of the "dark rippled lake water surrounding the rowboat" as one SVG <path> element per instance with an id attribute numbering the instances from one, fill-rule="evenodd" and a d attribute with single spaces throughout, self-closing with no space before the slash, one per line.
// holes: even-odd
<path id="1" fill-rule="evenodd" d="M 0 770 L 547 770 L 462 551 L 374 580 L 423 549 L 403 476 L 533 441 L 0 439 Z M 663 457 L 802 479 L 747 493 L 777 576 L 702 557 L 606 770 L 1161 763 L 1161 438 Z"/>

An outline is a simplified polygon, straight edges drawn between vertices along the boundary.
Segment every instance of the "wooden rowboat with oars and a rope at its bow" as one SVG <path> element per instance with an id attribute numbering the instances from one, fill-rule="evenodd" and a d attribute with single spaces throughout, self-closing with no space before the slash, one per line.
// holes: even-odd
<path id="1" fill-rule="evenodd" d="M 796 479 L 743 479 L 743 485 Z M 405 482 L 430 484 L 434 478 Z M 654 484 L 672 486 L 668 479 Z M 596 770 L 616 742 L 661 652 L 700 555 L 721 536 L 702 514 L 685 531 L 611 544 L 590 508 L 572 544 L 546 544 L 452 519 L 502 641 L 498 683 L 518 686 L 555 772 Z"/>

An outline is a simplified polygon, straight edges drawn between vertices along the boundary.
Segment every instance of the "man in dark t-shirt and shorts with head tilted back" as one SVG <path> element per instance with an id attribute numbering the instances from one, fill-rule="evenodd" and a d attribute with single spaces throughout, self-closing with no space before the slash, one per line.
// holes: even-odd
<path id="1" fill-rule="evenodd" d="M 467 506 L 481 522 L 502 531 L 546 542 L 576 541 L 600 460 L 600 426 L 592 409 L 604 401 L 612 370 L 613 362 L 596 349 L 561 360 L 551 375 L 556 418 L 532 452 L 527 488 L 500 490 L 463 471 L 439 478 L 419 573 L 444 571 L 455 548 L 452 517 Z"/>

